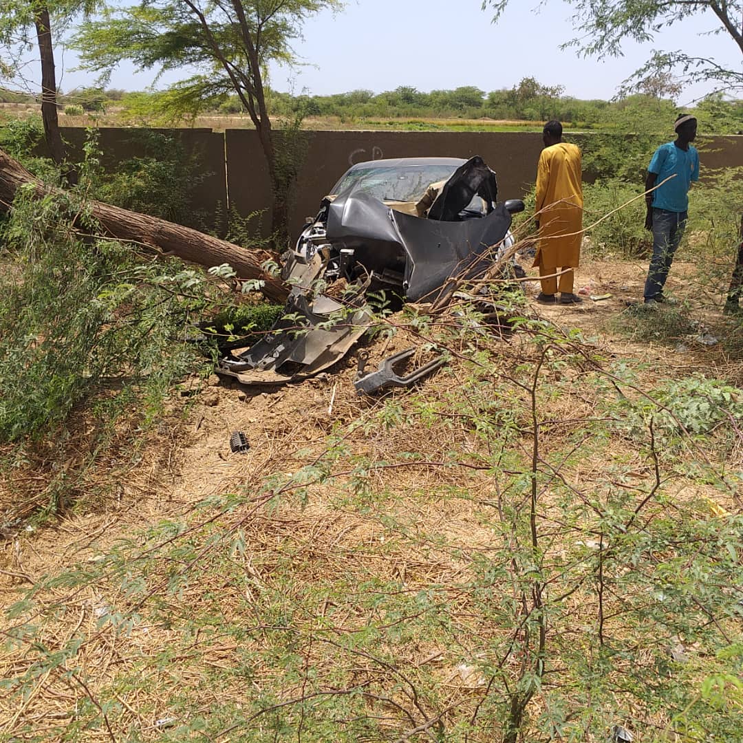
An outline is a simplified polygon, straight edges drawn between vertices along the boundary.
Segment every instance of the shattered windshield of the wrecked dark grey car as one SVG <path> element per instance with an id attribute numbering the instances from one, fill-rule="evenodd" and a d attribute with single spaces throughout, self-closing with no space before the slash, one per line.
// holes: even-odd
<path id="1" fill-rule="evenodd" d="M 332 194 L 339 194 L 357 184 L 380 201 L 418 201 L 426 188 L 437 181 L 446 181 L 457 169 L 447 163 L 429 165 L 374 166 L 349 170 L 333 186 Z"/>

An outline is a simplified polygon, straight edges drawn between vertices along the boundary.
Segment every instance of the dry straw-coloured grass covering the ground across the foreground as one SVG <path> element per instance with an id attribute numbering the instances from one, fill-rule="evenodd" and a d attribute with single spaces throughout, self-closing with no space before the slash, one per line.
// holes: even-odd
<path id="1" fill-rule="evenodd" d="M 581 276 L 596 279 L 607 268 L 594 264 Z M 548 308 L 545 317 L 601 333 L 590 353 L 606 363 L 640 359 L 638 390 L 710 365 L 739 374 L 740 364 L 715 349 L 669 363 L 661 345 L 607 335 L 606 307 Z M 377 340 L 370 368 L 401 348 L 421 348 L 434 332 L 401 329 Z M 528 509 L 518 473 L 529 472 L 533 446 L 528 391 L 509 379 L 528 380 L 523 370 L 533 369 L 539 349 L 527 334 L 480 342 L 492 367 L 480 373 L 464 359 L 472 339 L 461 334 L 450 341 L 450 367 L 417 391 L 381 400 L 357 397 L 352 359 L 328 376 L 250 392 L 247 400 L 238 389 L 207 386 L 186 415 L 174 404 L 136 464 L 112 461 L 89 473 L 86 487 L 99 494 L 82 500 L 85 507 L 7 533 L 4 604 L 33 586 L 38 593 L 2 629 L 37 629 L 0 655 L 3 678 L 30 673 L 27 694 L 0 699 L 0 735 L 175 740 L 198 737 L 203 723 L 204 739 L 259 741 L 281 717 L 294 737 L 304 730 L 308 740 L 416 739 L 438 728 L 451 740 L 467 731 L 469 741 L 493 740 L 501 691 L 489 674 L 500 666 L 516 678 L 524 658 L 504 648 L 514 632 L 526 641 L 496 621 L 509 601 L 519 602 L 510 555 L 525 543 L 512 523 Z M 540 485 L 545 562 L 577 585 L 593 549 L 579 543 L 596 539 L 595 524 L 587 508 L 585 521 L 566 527 L 565 502 L 609 504 L 620 492 L 627 507 L 640 505 L 654 478 L 646 449 L 620 429 L 604 441 L 586 438 L 601 416 L 596 374 L 592 363 L 552 366 L 539 392 L 540 452 L 558 475 Z M 491 433 L 478 429 L 484 420 Z M 510 435 L 502 435 L 507 426 Z M 247 433 L 247 454 L 230 452 L 235 430 Z M 82 450 L 82 433 L 75 441 Z M 704 455 L 739 467 L 742 441 Z M 643 510 L 647 524 L 663 517 L 667 502 L 700 519 L 739 509 L 736 493 L 672 469 L 667 475 L 663 501 Z M 10 507 L 33 502 L 49 476 L 42 462 L 20 467 L 5 482 Z M 492 580 L 484 579 L 485 565 Z M 69 571 L 77 576 L 47 578 Z M 622 614 L 626 600 L 606 597 L 613 618 L 603 631 L 617 641 L 634 631 Z M 551 640 L 557 667 L 560 658 L 570 663 L 590 652 L 592 583 L 554 611 L 562 633 Z M 652 666 L 668 641 L 658 632 L 632 662 Z M 63 651 L 58 664 L 49 662 Z M 535 716 L 557 687 L 545 684 Z M 309 704 L 319 699 L 328 700 L 324 713 Z M 635 722 L 668 722 L 619 692 L 617 707 Z M 322 728 L 322 716 L 330 727 Z M 365 727 L 360 716 L 375 722 Z"/>

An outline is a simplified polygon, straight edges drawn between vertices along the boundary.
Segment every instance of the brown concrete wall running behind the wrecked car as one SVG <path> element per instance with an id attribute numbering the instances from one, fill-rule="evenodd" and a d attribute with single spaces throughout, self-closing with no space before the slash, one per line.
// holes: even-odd
<path id="1" fill-rule="evenodd" d="M 258 140 L 252 129 L 157 129 L 178 137 L 186 153 L 196 155 L 201 184 L 192 193 L 193 212 L 214 215 L 228 202 L 241 215 L 264 211 L 262 232 L 270 230 L 270 181 Z M 277 132 L 280 136 L 281 132 Z M 80 152 L 85 132 L 63 129 L 63 136 Z M 499 198 L 519 198 L 533 184 L 542 136 L 534 132 L 302 132 L 301 166 L 290 211 L 296 235 L 305 217 L 314 216 L 320 199 L 353 163 L 381 158 L 469 158 L 481 155 L 498 176 Z M 579 145 L 591 134 L 571 134 Z M 710 169 L 743 166 L 743 136 L 700 137 L 702 175 Z M 101 129 L 103 166 L 143 154 L 137 129 Z M 648 152 L 648 160 L 652 153 Z M 639 185 L 639 184 L 638 184 Z M 257 227 L 257 224 L 256 224 Z"/>

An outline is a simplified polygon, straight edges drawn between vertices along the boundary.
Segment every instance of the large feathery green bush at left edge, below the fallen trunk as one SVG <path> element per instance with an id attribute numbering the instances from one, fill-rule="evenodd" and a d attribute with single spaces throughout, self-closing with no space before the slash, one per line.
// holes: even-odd
<path id="1" fill-rule="evenodd" d="M 183 339 L 208 304 L 201 273 L 141 265 L 118 241 L 82 239 L 72 224 L 84 211 L 74 195 L 21 192 L 4 227 L 0 441 L 63 429 L 106 380 L 120 380 L 147 418 L 194 363 Z"/>

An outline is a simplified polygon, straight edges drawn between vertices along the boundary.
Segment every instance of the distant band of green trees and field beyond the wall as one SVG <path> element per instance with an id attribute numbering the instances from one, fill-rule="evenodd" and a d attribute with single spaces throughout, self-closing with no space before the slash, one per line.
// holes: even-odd
<path id="1" fill-rule="evenodd" d="M 674 91 L 676 92 L 676 91 Z M 572 129 L 596 129 L 617 132 L 663 132 L 669 120 L 681 110 L 669 97 L 669 91 L 659 88 L 620 100 L 580 100 L 565 96 L 560 85 L 542 85 L 533 77 L 525 77 L 513 88 L 485 92 L 473 85 L 454 90 L 425 93 L 409 85 L 393 91 L 374 94 L 355 90 L 334 95 L 292 95 L 268 91 L 267 105 L 273 117 L 296 120 L 308 117 L 335 117 L 341 123 L 363 123 L 383 119 L 490 119 L 541 122 L 562 121 Z M 116 106 L 139 120 L 157 111 L 155 92 L 127 92 L 117 89 L 85 88 L 69 91 L 60 97 L 62 107 L 73 106 L 82 111 L 104 111 Z M 0 103 L 32 103 L 32 96 L 0 90 Z M 684 111 L 697 115 L 700 132 L 704 134 L 736 134 L 743 129 L 743 100 L 731 100 L 716 94 L 700 100 Z M 241 114 L 238 97 L 225 96 L 212 111 L 204 114 Z M 154 122 L 153 122 L 154 123 Z M 433 127 L 435 128 L 435 127 Z"/>

